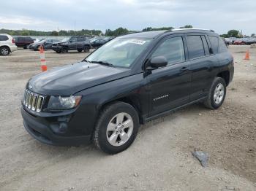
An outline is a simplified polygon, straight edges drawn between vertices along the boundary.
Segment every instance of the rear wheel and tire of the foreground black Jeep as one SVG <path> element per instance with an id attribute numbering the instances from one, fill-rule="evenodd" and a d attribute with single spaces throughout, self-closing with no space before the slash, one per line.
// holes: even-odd
<path id="1" fill-rule="evenodd" d="M 226 96 L 226 82 L 221 77 L 215 77 L 211 84 L 208 97 L 204 105 L 209 109 L 218 109 L 224 102 Z"/>

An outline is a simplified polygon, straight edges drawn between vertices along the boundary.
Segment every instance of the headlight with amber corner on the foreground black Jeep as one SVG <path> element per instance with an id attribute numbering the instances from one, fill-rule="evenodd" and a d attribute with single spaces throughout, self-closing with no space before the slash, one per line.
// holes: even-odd
<path id="1" fill-rule="evenodd" d="M 78 106 L 81 98 L 82 98 L 82 95 L 50 96 L 48 109 L 53 109 L 53 110 L 72 109 Z"/>

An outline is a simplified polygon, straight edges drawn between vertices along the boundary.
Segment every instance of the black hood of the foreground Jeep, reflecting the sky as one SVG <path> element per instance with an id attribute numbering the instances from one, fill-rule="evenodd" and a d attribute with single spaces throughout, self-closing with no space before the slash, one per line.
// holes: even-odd
<path id="1" fill-rule="evenodd" d="M 73 95 L 95 85 L 127 77 L 129 69 L 80 62 L 45 71 L 29 79 L 26 88 L 42 95 Z"/>

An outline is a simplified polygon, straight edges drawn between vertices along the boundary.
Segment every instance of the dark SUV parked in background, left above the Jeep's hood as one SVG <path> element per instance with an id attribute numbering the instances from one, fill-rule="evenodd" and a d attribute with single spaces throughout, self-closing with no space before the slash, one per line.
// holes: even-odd
<path id="1" fill-rule="evenodd" d="M 53 43 L 53 50 L 57 53 L 68 52 L 69 50 L 78 50 L 78 52 L 89 52 L 91 44 L 86 36 L 71 36 L 63 39 L 61 42 Z"/>

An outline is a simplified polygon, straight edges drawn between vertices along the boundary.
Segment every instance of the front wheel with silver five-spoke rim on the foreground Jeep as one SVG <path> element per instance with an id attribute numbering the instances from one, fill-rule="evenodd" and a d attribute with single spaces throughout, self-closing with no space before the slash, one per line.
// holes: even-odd
<path id="1" fill-rule="evenodd" d="M 133 106 L 116 101 L 102 109 L 94 130 L 94 144 L 108 154 L 127 149 L 135 140 L 139 117 Z"/>

